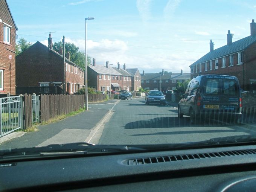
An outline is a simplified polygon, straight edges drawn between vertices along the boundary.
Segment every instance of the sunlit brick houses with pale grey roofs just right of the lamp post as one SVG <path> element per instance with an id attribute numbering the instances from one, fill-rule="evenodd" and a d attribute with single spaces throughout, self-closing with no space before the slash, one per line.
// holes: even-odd
<path id="1" fill-rule="evenodd" d="M 108 61 L 105 66 L 96 65 L 96 59 L 93 58 L 93 64 L 87 66 L 88 69 L 88 87 L 93 87 L 100 91 L 120 91 L 131 90 L 131 75 L 118 67 L 110 67 Z M 111 88 L 110 88 L 111 75 Z"/>

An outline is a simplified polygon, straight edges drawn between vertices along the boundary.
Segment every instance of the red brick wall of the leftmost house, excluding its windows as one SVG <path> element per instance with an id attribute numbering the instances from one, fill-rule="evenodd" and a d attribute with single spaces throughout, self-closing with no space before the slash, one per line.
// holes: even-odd
<path id="1" fill-rule="evenodd" d="M 0 0 L 0 69 L 3 73 L 3 91 L 0 94 L 15 94 L 15 35 L 16 29 L 5 0 Z M 10 44 L 3 43 L 3 22 L 12 26 Z M 11 57 L 11 58 L 10 58 Z"/>

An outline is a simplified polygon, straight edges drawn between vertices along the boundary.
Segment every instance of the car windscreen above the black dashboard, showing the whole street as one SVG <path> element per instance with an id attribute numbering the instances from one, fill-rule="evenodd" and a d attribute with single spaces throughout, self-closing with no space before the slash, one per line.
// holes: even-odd
<path id="1" fill-rule="evenodd" d="M 0 0 L 0 152 L 256 136 L 254 19 L 255 0 Z"/>

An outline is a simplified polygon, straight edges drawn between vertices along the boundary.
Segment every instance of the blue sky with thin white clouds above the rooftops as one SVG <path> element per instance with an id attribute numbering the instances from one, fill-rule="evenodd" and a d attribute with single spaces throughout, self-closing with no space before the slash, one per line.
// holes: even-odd
<path id="1" fill-rule="evenodd" d="M 214 48 L 250 35 L 256 20 L 255 0 L 7 0 L 18 37 L 47 45 L 74 43 L 85 49 L 96 64 L 138 68 L 142 73 L 189 72 L 189 65 Z"/>

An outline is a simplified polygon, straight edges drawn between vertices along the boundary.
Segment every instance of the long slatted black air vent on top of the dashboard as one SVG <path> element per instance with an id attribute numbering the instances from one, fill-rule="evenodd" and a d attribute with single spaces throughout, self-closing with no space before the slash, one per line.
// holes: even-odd
<path id="1" fill-rule="evenodd" d="M 135 159 L 126 160 L 123 163 L 125 165 L 145 165 L 145 164 L 152 164 L 152 163 L 176 162 L 176 161 L 183 161 L 183 160 L 204 159 L 204 158 L 213 158 L 213 157 L 227 157 L 227 156 L 236 156 L 236 155 L 250 155 L 250 154 L 256 154 L 256 149 L 198 153 L 198 154 L 187 154 L 187 155 L 170 155 L 170 156 L 162 156 L 162 157 L 135 158 Z"/>

